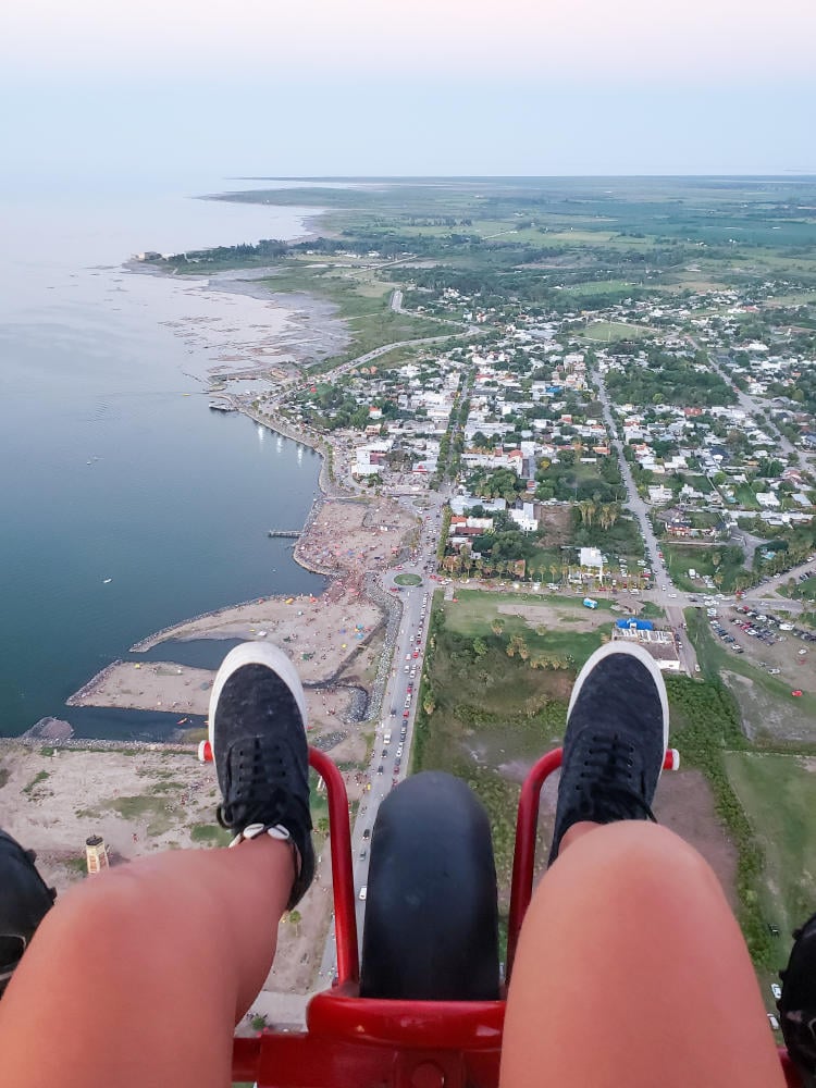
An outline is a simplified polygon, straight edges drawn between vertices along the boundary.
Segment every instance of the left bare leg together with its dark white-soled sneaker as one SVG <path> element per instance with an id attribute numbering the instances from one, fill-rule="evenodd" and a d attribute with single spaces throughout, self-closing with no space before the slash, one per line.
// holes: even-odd
<path id="1" fill-rule="evenodd" d="M 233 1027 L 263 984 L 279 919 L 314 875 L 306 698 L 267 643 L 215 673 L 209 739 L 234 849 L 95 877 L 46 916 L 0 1005 L 14 1088 L 225 1088 Z"/>

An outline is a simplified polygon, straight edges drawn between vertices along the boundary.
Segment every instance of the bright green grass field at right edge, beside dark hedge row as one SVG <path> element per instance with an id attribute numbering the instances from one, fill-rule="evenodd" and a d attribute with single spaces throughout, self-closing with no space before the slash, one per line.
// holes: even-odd
<path id="1" fill-rule="evenodd" d="M 789 935 L 816 907 L 816 759 L 770 753 L 728 752 L 729 780 L 765 853 L 759 899 L 779 927 L 780 964 Z"/>

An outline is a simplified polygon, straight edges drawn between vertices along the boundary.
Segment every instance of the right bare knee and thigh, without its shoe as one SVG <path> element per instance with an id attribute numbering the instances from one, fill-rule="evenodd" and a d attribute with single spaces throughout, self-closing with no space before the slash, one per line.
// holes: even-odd
<path id="1" fill-rule="evenodd" d="M 503 1088 L 783 1085 L 717 878 L 666 828 L 576 825 L 533 898 Z"/>

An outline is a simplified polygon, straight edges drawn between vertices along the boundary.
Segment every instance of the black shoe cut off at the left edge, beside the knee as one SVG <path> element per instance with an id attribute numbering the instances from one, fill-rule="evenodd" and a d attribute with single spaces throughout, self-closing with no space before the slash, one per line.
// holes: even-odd
<path id="1" fill-rule="evenodd" d="M 0 997 L 57 898 L 37 871 L 36 856 L 0 831 Z"/>

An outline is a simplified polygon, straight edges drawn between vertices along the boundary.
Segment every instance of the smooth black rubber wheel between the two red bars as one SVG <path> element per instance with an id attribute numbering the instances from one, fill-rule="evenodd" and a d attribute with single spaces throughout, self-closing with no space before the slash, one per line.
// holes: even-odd
<path id="1" fill-rule="evenodd" d="M 491 1001 L 498 985 L 487 815 L 460 779 L 415 775 L 388 794 L 374 823 L 360 993 Z"/>

